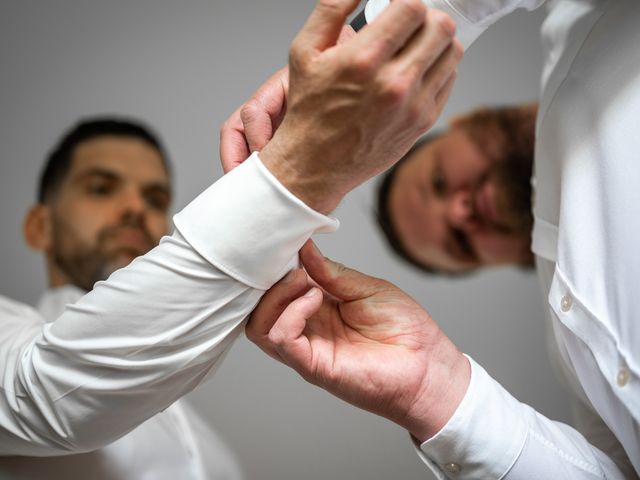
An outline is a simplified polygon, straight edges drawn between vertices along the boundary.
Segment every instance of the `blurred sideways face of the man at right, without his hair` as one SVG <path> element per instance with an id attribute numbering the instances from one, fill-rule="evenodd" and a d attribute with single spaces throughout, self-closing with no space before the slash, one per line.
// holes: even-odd
<path id="1" fill-rule="evenodd" d="M 529 201 L 514 198 L 530 197 L 530 179 L 511 175 L 508 163 L 487 158 L 456 128 L 404 161 L 389 211 L 407 253 L 448 272 L 530 260 Z"/>

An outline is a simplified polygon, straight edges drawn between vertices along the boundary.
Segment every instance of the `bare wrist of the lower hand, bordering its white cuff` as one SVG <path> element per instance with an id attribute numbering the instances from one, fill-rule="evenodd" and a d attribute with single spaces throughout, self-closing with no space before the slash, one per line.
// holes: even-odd
<path id="1" fill-rule="evenodd" d="M 405 428 L 424 442 L 449 422 L 462 402 L 471 381 L 467 357 L 445 337 L 446 345 L 435 348 L 419 398 L 411 407 Z"/>

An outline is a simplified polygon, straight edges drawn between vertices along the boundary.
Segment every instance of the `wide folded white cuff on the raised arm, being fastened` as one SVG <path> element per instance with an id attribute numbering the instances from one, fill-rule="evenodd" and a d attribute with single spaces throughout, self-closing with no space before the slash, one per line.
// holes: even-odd
<path id="1" fill-rule="evenodd" d="M 173 221 L 208 262 L 260 290 L 297 266 L 298 251 L 313 233 L 333 232 L 339 226 L 337 219 L 289 192 L 258 153 L 201 193 Z"/>

